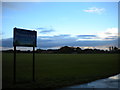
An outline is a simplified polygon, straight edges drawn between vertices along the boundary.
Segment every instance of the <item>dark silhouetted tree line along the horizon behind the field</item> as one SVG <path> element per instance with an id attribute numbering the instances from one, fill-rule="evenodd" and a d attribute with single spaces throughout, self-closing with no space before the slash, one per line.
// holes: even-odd
<path id="1" fill-rule="evenodd" d="M 11 50 L 5 50 L 2 52 L 14 52 Z M 21 51 L 17 50 L 18 53 L 32 53 L 32 51 Z M 100 49 L 81 49 L 80 47 L 69 47 L 69 46 L 63 46 L 59 49 L 37 49 L 35 50 L 35 53 L 42 53 L 42 54 L 80 54 L 80 53 L 119 53 L 120 49 L 114 46 L 110 46 L 109 50 L 100 50 Z"/>

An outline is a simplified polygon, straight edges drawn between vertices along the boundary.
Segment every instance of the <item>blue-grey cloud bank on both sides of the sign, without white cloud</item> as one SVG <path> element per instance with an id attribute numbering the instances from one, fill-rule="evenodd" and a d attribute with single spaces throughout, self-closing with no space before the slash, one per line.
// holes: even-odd
<path id="1" fill-rule="evenodd" d="M 57 38 L 56 38 L 57 36 Z M 70 37 L 69 35 L 56 35 L 56 36 L 39 36 L 37 39 L 37 47 L 39 48 L 52 48 L 61 46 L 102 46 L 102 45 L 113 45 L 120 46 L 120 39 L 109 40 L 109 41 L 76 41 L 76 37 Z M 58 37 L 59 36 L 59 37 Z M 44 38 L 46 39 L 44 39 Z M 66 37 L 66 38 L 65 38 Z M 13 39 L 3 39 L 2 47 L 13 47 Z"/>

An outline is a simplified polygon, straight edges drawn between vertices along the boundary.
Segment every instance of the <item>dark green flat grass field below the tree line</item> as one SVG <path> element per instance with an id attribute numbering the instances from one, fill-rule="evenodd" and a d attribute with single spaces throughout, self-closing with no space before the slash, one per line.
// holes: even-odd
<path id="1" fill-rule="evenodd" d="M 3 88 L 61 88 L 120 73 L 118 54 L 17 54 L 17 84 L 13 85 L 13 54 L 3 53 Z"/>

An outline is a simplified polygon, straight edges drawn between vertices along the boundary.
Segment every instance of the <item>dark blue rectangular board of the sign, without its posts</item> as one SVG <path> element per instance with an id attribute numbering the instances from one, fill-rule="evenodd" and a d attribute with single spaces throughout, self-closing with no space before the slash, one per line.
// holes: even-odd
<path id="1" fill-rule="evenodd" d="M 37 32 L 14 28 L 13 46 L 36 47 Z"/>

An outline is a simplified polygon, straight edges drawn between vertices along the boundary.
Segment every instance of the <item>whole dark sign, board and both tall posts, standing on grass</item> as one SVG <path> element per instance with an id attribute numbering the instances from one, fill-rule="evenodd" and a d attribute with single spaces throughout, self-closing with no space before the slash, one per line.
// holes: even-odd
<path id="1" fill-rule="evenodd" d="M 13 63 L 13 82 L 16 83 L 16 46 L 33 47 L 33 81 L 35 81 L 35 47 L 37 32 L 25 29 L 14 28 L 13 36 L 14 63 Z"/>

